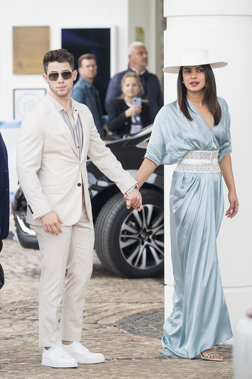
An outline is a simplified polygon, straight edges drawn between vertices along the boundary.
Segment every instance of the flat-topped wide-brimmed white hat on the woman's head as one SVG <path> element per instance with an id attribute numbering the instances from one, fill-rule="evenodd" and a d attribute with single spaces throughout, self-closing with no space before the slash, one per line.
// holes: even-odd
<path id="1" fill-rule="evenodd" d="M 205 49 L 191 49 L 182 50 L 180 56 L 180 64 L 178 66 L 168 66 L 163 68 L 163 72 L 169 74 L 178 74 L 181 66 L 197 66 L 197 64 L 210 64 L 212 69 L 227 66 L 227 62 L 214 62 L 210 63 L 208 50 Z"/>

